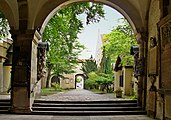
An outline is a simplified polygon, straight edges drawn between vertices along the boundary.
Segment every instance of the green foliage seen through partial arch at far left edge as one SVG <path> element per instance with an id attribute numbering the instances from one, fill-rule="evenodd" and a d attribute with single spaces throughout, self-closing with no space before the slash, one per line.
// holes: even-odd
<path id="1" fill-rule="evenodd" d="M 5 15 L 0 11 L 0 38 L 7 37 L 9 35 L 9 23 L 5 18 Z"/>

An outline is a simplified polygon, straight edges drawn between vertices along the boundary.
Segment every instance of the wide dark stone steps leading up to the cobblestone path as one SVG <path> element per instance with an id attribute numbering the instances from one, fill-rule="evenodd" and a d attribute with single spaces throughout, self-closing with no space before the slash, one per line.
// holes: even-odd
<path id="1" fill-rule="evenodd" d="M 145 115 L 136 100 L 44 101 L 35 100 L 32 114 L 38 115 Z"/>

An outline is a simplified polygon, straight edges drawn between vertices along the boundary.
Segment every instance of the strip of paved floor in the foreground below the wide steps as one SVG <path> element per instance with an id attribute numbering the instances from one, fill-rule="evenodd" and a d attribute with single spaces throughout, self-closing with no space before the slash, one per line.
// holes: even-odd
<path id="1" fill-rule="evenodd" d="M 125 116 L 52 116 L 52 115 L 2 115 L 0 120 L 154 120 L 144 115 Z"/>

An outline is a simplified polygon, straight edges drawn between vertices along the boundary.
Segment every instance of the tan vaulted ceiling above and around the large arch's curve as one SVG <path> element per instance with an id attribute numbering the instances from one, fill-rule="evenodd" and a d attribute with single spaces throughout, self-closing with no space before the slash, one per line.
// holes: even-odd
<path id="1" fill-rule="evenodd" d="M 0 10 L 4 12 L 12 29 L 19 29 L 22 22 L 27 29 L 41 28 L 55 12 L 75 2 L 100 2 L 118 10 L 132 25 L 134 31 L 147 29 L 150 0 L 0 0 Z"/>

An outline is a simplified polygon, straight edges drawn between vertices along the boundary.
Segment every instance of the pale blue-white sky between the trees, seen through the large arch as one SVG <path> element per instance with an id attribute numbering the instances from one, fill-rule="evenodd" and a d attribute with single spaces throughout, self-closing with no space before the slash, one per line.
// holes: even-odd
<path id="1" fill-rule="evenodd" d="M 95 57 L 96 45 L 99 34 L 110 33 L 113 27 L 116 27 L 120 23 L 119 18 L 123 16 L 115 9 L 104 5 L 105 19 L 101 19 L 99 23 L 91 23 L 86 25 L 85 16 L 82 15 L 80 18 L 84 21 L 84 29 L 78 35 L 78 40 L 83 44 L 86 49 L 79 56 L 80 59 L 88 59 L 91 55 Z"/>

